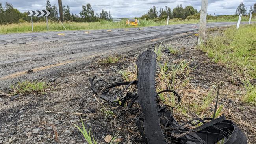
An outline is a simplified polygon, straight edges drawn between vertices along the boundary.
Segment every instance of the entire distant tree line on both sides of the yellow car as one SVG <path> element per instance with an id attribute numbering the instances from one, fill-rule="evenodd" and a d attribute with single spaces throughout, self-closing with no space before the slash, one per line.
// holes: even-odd
<path id="1" fill-rule="evenodd" d="M 48 17 L 51 21 L 58 21 L 58 8 L 56 5 L 51 5 L 49 0 L 46 0 L 46 9 L 51 12 L 50 16 Z M 256 17 L 256 3 L 250 7 L 249 13 L 253 12 L 253 17 Z M 247 8 L 243 3 L 239 4 L 236 9 L 236 15 L 222 15 L 221 18 L 234 18 L 237 17 L 239 14 L 242 15 L 249 15 L 247 13 Z M 63 14 L 65 21 L 70 22 L 97 22 L 100 20 L 112 20 L 112 14 L 110 11 L 103 10 L 100 14 L 94 12 L 91 7 L 91 4 L 82 5 L 82 11 L 79 14 L 71 14 L 70 7 L 63 6 Z M 154 20 L 154 21 L 161 21 L 166 20 L 169 16 L 169 19 L 174 20 L 184 20 L 184 19 L 199 19 L 200 18 L 200 11 L 198 12 L 197 9 L 194 9 L 193 6 L 186 6 L 185 8 L 182 7 L 181 4 L 177 5 L 173 10 L 170 7 L 165 6 L 165 8 L 156 9 L 155 6 L 151 7 L 147 13 L 144 13 L 140 18 L 146 20 Z M 216 16 L 208 15 L 208 19 L 214 19 Z M 8 24 L 8 23 L 18 23 L 18 22 L 30 22 L 30 17 L 28 17 L 28 13 L 20 13 L 17 9 L 15 9 L 10 3 L 6 2 L 5 7 L 2 6 L 0 3 L 0 24 Z M 45 17 L 33 17 L 34 22 L 45 22 Z"/>

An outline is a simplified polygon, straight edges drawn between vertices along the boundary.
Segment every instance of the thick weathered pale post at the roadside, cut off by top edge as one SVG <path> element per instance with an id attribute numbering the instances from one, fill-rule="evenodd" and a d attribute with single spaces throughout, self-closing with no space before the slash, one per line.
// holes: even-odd
<path id="1" fill-rule="evenodd" d="M 207 5 L 208 5 L 208 0 L 202 0 L 201 12 L 200 12 L 198 44 L 201 44 L 204 41 L 204 39 L 205 39 L 205 28 L 206 28 L 206 18 L 207 18 Z"/>

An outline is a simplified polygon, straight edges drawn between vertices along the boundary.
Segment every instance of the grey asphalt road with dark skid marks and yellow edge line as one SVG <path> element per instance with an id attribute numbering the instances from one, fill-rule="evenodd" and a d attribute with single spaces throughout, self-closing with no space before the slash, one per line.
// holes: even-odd
<path id="1" fill-rule="evenodd" d="M 215 22 L 207 24 L 207 28 L 235 24 Z M 58 31 L 0 35 L 0 90 L 20 79 L 52 76 L 85 64 L 95 56 L 144 48 L 198 31 L 198 27 L 198 24 L 179 24 L 143 29 L 113 29 L 111 32 L 88 30 L 89 33 Z M 29 69 L 34 72 L 28 77 L 25 72 Z"/>

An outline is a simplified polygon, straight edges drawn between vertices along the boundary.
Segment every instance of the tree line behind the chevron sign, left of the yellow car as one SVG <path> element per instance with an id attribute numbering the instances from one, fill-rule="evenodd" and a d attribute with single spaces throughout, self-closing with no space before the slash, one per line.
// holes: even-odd
<path id="1" fill-rule="evenodd" d="M 51 5 L 49 0 L 46 0 L 46 9 L 50 11 L 50 16 L 48 17 L 51 21 L 58 21 L 58 8 L 56 5 Z M 77 14 L 70 13 L 70 7 L 63 6 L 63 14 L 65 21 L 71 22 L 96 22 L 100 20 L 112 20 L 112 14 L 106 10 L 101 11 L 100 15 L 94 13 L 91 4 L 82 5 L 82 11 Z M 33 17 L 33 22 L 45 21 L 45 17 Z M 17 22 L 30 22 L 31 18 L 28 17 L 28 13 L 20 13 L 17 9 L 6 2 L 5 7 L 0 3 L 0 24 L 17 23 Z"/>

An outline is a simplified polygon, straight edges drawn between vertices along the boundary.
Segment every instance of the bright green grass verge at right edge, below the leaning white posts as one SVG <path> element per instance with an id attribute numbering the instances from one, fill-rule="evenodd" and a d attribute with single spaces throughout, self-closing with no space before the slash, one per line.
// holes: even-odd
<path id="1" fill-rule="evenodd" d="M 198 46 L 216 63 L 234 70 L 234 75 L 243 79 L 247 90 L 243 100 L 256 103 L 256 86 L 249 80 L 256 79 L 256 24 L 242 25 L 237 30 L 227 28 L 218 36 L 210 36 L 206 44 Z"/>

